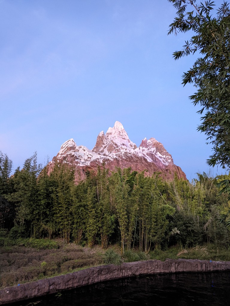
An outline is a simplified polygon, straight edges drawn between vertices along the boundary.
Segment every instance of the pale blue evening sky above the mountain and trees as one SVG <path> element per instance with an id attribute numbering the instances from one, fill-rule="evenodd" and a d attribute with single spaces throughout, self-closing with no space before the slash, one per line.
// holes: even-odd
<path id="1" fill-rule="evenodd" d="M 216 1 L 217 6 L 222 1 Z M 174 61 L 190 34 L 167 35 L 167 0 L 0 0 L 0 151 L 23 167 L 56 156 L 73 138 L 92 149 L 120 121 L 130 140 L 154 137 L 190 180 L 209 168 L 211 146 Z"/>

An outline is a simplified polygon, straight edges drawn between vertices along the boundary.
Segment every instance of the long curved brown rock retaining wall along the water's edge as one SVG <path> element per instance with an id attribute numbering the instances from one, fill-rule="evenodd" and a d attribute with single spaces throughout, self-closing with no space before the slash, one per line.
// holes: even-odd
<path id="1" fill-rule="evenodd" d="M 166 259 L 122 263 L 121 266 L 106 265 L 41 279 L 0 290 L 0 304 L 31 299 L 61 290 L 91 285 L 97 282 L 145 274 L 176 272 L 210 272 L 230 270 L 230 262 L 198 259 Z"/>

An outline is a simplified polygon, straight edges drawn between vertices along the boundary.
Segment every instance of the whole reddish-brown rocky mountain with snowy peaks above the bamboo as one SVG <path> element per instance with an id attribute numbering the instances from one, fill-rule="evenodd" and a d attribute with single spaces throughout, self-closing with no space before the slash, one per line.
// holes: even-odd
<path id="1" fill-rule="evenodd" d="M 103 165 L 110 171 L 115 167 L 128 168 L 133 171 L 148 170 L 146 175 L 161 172 L 162 178 L 172 180 L 174 173 L 179 178 L 186 179 L 186 175 L 179 166 L 174 165 L 172 156 L 164 146 L 155 138 L 144 138 L 139 147 L 136 146 L 126 133 L 123 125 L 116 121 L 113 128 L 103 131 L 97 136 L 92 150 L 84 146 L 77 146 L 73 138 L 64 142 L 57 156 L 49 162 L 48 173 L 53 169 L 54 163 L 68 163 L 76 168 L 76 183 L 86 177 L 86 171 L 94 170 Z"/>

